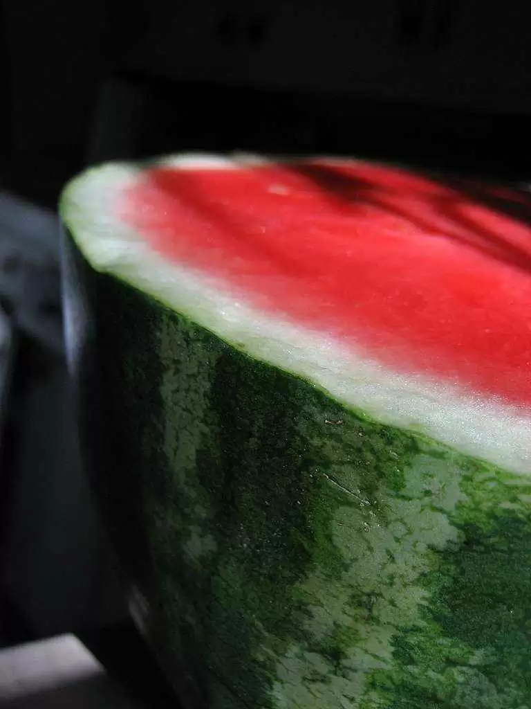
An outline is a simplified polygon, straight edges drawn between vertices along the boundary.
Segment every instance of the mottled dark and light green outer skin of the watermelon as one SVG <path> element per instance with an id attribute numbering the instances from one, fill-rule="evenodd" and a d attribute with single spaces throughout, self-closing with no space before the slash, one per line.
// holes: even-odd
<path id="1" fill-rule="evenodd" d="M 96 490 L 185 709 L 531 708 L 530 478 L 76 278 Z"/>

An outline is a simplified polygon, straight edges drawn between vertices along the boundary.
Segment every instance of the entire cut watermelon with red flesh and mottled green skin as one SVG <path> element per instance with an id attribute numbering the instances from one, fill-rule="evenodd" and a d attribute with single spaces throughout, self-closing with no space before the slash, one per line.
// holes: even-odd
<path id="1" fill-rule="evenodd" d="M 186 709 L 531 708 L 531 199 L 179 155 L 60 203 L 69 362 Z"/>

